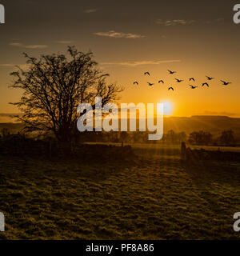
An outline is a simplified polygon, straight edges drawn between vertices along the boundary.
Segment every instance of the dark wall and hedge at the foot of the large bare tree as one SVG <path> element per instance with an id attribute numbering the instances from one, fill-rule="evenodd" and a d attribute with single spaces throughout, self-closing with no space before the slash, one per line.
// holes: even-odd
<path id="1" fill-rule="evenodd" d="M 101 154 L 99 154 L 101 152 Z M 81 162 L 133 162 L 131 146 L 62 144 L 54 136 L 33 138 L 26 134 L 10 134 L 7 129 L 0 135 L 0 155 L 42 159 L 75 159 Z"/>

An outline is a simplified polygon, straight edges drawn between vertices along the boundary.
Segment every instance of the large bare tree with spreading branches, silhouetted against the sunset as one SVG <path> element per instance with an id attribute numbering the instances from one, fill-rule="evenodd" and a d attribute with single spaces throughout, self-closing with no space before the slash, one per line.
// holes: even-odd
<path id="1" fill-rule="evenodd" d="M 122 88 L 115 83 L 107 84 L 106 77 L 98 69 L 91 52 L 83 53 L 69 46 L 64 54 L 42 55 L 39 59 L 28 54 L 29 68 L 11 73 L 11 88 L 23 90 L 18 106 L 26 132 L 53 132 L 59 142 L 73 142 L 78 133 L 77 107 L 82 102 L 94 106 L 94 98 L 102 97 L 102 105 L 118 99 Z"/>

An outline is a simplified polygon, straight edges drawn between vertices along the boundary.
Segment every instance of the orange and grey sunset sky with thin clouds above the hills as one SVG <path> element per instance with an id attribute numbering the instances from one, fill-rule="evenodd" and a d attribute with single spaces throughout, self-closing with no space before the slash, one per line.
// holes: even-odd
<path id="1" fill-rule="evenodd" d="M 0 25 L 0 113 L 18 112 L 8 102 L 10 72 L 24 65 L 22 52 L 65 53 L 66 46 L 94 52 L 111 82 L 125 87 L 121 102 L 171 102 L 175 116 L 240 117 L 240 24 L 236 1 L 12 0 Z M 176 70 L 170 75 L 167 70 Z M 143 75 L 150 72 L 150 77 Z M 215 79 L 202 88 L 206 75 Z M 189 78 L 199 86 L 190 89 Z M 174 78 L 185 81 L 177 84 Z M 159 85 L 158 80 L 166 81 Z M 222 86 L 220 79 L 232 82 Z M 138 81 L 139 86 L 133 82 Z M 147 82 L 155 83 L 150 87 Z M 173 86 L 173 91 L 167 88 Z"/>

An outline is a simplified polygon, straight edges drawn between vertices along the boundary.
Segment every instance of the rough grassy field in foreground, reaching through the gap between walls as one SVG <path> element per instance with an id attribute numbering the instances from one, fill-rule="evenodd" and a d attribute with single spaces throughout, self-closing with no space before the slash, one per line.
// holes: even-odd
<path id="1" fill-rule="evenodd" d="M 0 238 L 239 238 L 239 162 L 185 163 L 178 146 L 134 151 L 122 165 L 0 157 Z"/>

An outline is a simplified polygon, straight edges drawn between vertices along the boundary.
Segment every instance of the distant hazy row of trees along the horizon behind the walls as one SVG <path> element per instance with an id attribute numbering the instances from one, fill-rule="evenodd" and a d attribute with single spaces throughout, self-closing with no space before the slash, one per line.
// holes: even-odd
<path id="1" fill-rule="evenodd" d="M 223 130 L 222 134 L 218 137 L 215 137 L 210 134 L 210 132 L 206 132 L 203 130 L 194 131 L 190 134 L 186 134 L 185 132 L 175 132 L 174 130 L 169 130 L 165 134 L 163 134 L 162 140 L 160 141 L 149 141 L 148 139 L 149 132 L 85 132 L 81 135 L 76 135 L 74 143 L 72 145 L 81 145 L 84 142 L 109 142 L 109 143 L 122 143 L 131 144 L 131 143 L 165 143 L 165 144 L 179 144 L 181 142 L 187 142 L 190 145 L 197 146 L 238 146 L 238 140 L 234 137 L 233 130 Z M 16 140 L 30 140 L 33 137 L 30 137 L 26 134 L 11 134 L 10 130 L 7 128 L 3 128 L 0 134 L 1 143 L 10 141 L 10 139 Z M 42 142 L 51 142 L 57 143 L 58 140 L 54 138 L 54 135 L 44 135 L 40 137 Z M 39 139 L 37 140 L 39 141 Z M 15 144 L 15 146 L 17 146 Z"/>

